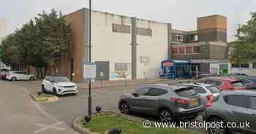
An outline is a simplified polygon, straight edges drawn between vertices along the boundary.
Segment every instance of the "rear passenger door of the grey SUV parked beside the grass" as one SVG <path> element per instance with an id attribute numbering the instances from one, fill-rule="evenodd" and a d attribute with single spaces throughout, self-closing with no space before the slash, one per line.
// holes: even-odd
<path id="1" fill-rule="evenodd" d="M 155 114 L 159 109 L 160 96 L 167 93 L 167 90 L 159 87 L 150 87 L 146 95 L 143 96 L 142 110 L 146 114 Z"/>

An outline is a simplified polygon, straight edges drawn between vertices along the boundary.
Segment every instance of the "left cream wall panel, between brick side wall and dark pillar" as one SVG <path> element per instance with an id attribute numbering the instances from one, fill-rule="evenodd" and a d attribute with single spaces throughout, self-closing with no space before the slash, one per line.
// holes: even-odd
<path id="1" fill-rule="evenodd" d="M 124 33 L 113 32 L 113 24 L 120 25 L 118 28 L 124 29 Z M 110 80 L 113 80 L 111 74 L 115 73 L 115 63 L 131 64 L 131 35 L 129 30 L 122 28 L 127 25 L 131 25 L 129 17 L 92 12 L 91 58 L 93 62 L 110 62 Z"/>

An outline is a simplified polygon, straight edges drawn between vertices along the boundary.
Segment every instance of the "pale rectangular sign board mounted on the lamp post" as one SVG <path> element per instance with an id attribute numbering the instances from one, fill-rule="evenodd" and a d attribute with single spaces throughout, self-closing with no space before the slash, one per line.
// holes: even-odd
<path id="1" fill-rule="evenodd" d="M 96 64 L 95 63 L 83 63 L 83 78 L 95 79 L 96 78 Z"/>

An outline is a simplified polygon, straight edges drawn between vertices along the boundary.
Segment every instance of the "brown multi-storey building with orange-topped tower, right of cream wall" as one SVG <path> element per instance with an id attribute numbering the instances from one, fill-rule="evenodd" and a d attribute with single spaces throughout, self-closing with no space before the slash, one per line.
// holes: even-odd
<path id="1" fill-rule="evenodd" d="M 230 70 L 227 58 L 227 17 L 197 18 L 197 31 L 172 30 L 170 59 L 189 60 L 192 71 L 218 73 Z"/>

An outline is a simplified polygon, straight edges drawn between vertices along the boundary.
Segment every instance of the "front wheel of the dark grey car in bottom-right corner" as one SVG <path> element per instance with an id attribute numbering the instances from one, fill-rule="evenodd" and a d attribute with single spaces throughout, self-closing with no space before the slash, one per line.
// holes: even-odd
<path id="1" fill-rule="evenodd" d="M 212 118 L 212 119 L 209 119 L 209 122 L 210 123 L 217 123 L 217 122 L 223 122 L 222 119 L 219 119 L 219 118 Z M 214 126 L 211 126 L 208 128 L 208 134 L 227 134 L 227 127 L 225 126 L 222 126 L 222 127 L 214 127 Z"/>

